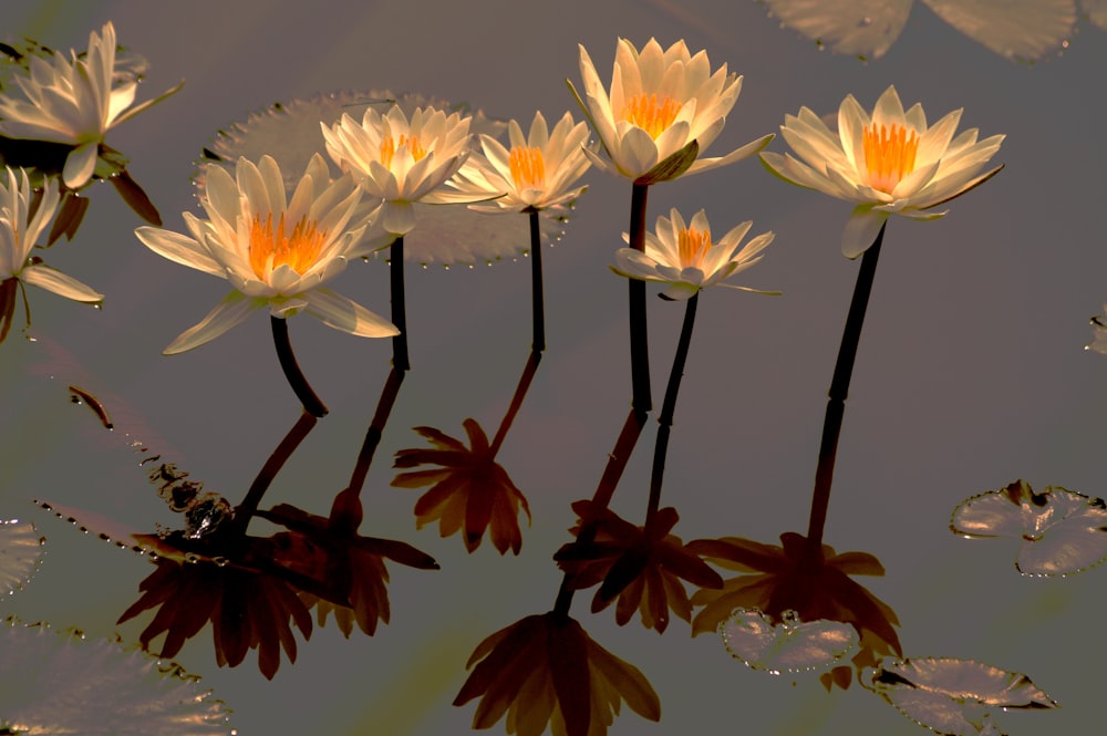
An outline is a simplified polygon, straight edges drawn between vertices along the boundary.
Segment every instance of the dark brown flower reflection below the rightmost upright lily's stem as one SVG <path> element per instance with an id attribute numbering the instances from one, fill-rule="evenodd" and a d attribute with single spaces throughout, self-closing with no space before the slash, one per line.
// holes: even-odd
<path id="1" fill-rule="evenodd" d="M 738 537 L 702 539 L 689 549 L 721 567 L 751 573 L 731 578 L 720 590 L 703 589 L 692 604 L 704 607 L 692 621 L 692 635 L 715 631 L 731 611 L 742 607 L 758 609 L 779 622 L 793 610 L 803 621 L 829 619 L 852 624 L 860 634 L 853 664 L 875 666 L 883 656 L 902 656 L 896 626 L 899 619 L 887 603 L 855 582 L 850 576 L 883 576 L 877 558 L 866 552 L 842 552 L 823 545 L 821 559 L 806 552 L 806 538 L 795 532 L 780 535 L 782 546 L 765 545 Z M 823 675 L 828 688 L 846 688 L 851 674 L 836 667 Z"/>

